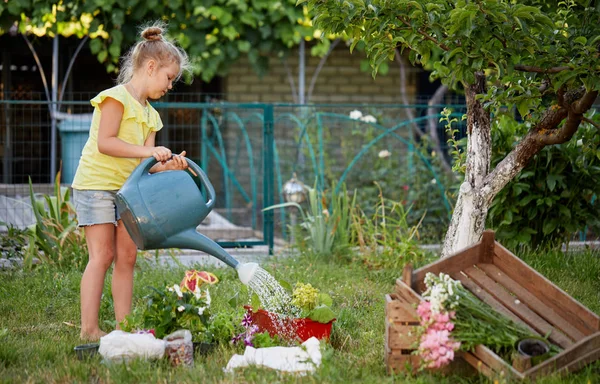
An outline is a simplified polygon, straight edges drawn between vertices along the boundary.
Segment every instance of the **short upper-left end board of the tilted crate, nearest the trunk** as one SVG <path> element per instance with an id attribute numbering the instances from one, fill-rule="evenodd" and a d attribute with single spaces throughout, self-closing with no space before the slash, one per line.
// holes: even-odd
<path id="1" fill-rule="evenodd" d="M 462 271 L 467 267 L 477 264 L 481 257 L 479 252 L 480 244 L 481 242 L 475 243 L 452 256 L 444 257 L 443 259 L 417 269 L 413 272 L 412 288 L 419 294 L 423 293 L 426 289 L 424 279 L 428 272 L 435 275 L 439 275 L 440 272 L 451 275 L 454 272 Z"/>

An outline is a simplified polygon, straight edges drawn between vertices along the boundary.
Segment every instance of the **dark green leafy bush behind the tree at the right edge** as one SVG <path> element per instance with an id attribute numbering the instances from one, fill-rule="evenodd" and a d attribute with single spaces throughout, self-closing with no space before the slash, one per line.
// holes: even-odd
<path id="1" fill-rule="evenodd" d="M 500 128 L 501 127 L 501 128 Z M 527 125 L 500 117 L 492 130 L 492 163 L 503 159 Z M 506 244 L 560 246 L 589 226 L 600 228 L 600 137 L 580 128 L 561 146 L 546 147 L 492 202 L 488 223 Z"/>

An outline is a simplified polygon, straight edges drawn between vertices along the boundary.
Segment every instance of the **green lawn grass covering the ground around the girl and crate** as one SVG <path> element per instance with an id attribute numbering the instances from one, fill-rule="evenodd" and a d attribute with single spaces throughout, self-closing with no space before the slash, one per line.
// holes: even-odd
<path id="1" fill-rule="evenodd" d="M 583 305 L 600 313 L 600 257 L 591 252 L 520 255 L 536 270 L 566 290 Z M 247 368 L 225 374 L 223 368 L 241 348 L 221 346 L 207 357 L 197 357 L 193 368 L 171 368 L 166 361 L 136 360 L 108 364 L 99 358 L 78 361 L 73 347 L 79 340 L 78 271 L 38 268 L 31 272 L 0 273 L 0 382 L 101 383 L 486 383 L 487 378 L 389 376 L 383 361 L 384 294 L 393 290 L 401 271 L 370 271 L 358 262 L 329 263 L 318 258 L 270 259 L 262 265 L 278 279 L 311 283 L 330 294 L 338 315 L 324 361 L 314 375 L 298 377 Z M 197 266 L 202 268 L 202 266 Z M 204 267 L 220 282 L 214 287 L 213 313 L 231 310 L 227 300 L 241 288 L 231 269 Z M 179 282 L 184 269 L 153 266 L 142 261 L 135 277 L 134 297 L 149 285 Z M 100 317 L 113 329 L 110 279 L 107 278 Z M 505 380 L 498 378 L 498 382 Z M 598 383 L 600 363 L 564 378 L 547 377 L 540 383 Z"/>

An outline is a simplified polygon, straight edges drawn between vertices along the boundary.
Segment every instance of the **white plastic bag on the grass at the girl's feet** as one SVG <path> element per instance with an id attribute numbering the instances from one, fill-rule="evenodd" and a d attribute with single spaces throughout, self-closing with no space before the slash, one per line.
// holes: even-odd
<path id="1" fill-rule="evenodd" d="M 165 354 L 165 342 L 151 333 L 115 330 L 100 338 L 98 353 L 108 360 L 129 360 L 136 357 L 160 359 Z"/>

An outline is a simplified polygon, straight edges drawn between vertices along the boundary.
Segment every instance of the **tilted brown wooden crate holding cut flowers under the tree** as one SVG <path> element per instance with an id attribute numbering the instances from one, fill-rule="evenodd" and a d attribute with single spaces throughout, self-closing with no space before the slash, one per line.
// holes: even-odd
<path id="1" fill-rule="evenodd" d="M 550 373 L 568 373 L 600 359 L 600 318 L 566 292 L 529 267 L 485 231 L 482 240 L 452 256 L 412 271 L 406 268 L 396 282 L 397 297 L 419 298 L 428 272 L 449 274 L 475 296 L 545 336 L 562 351 L 519 372 L 483 345 L 461 357 L 479 372 L 495 377 L 533 379 Z M 401 293 L 400 293 L 401 292 Z M 390 298 L 392 298 L 390 296 Z M 387 304 L 386 304 L 387 305 Z M 387 341 L 389 344 L 389 341 Z"/>

